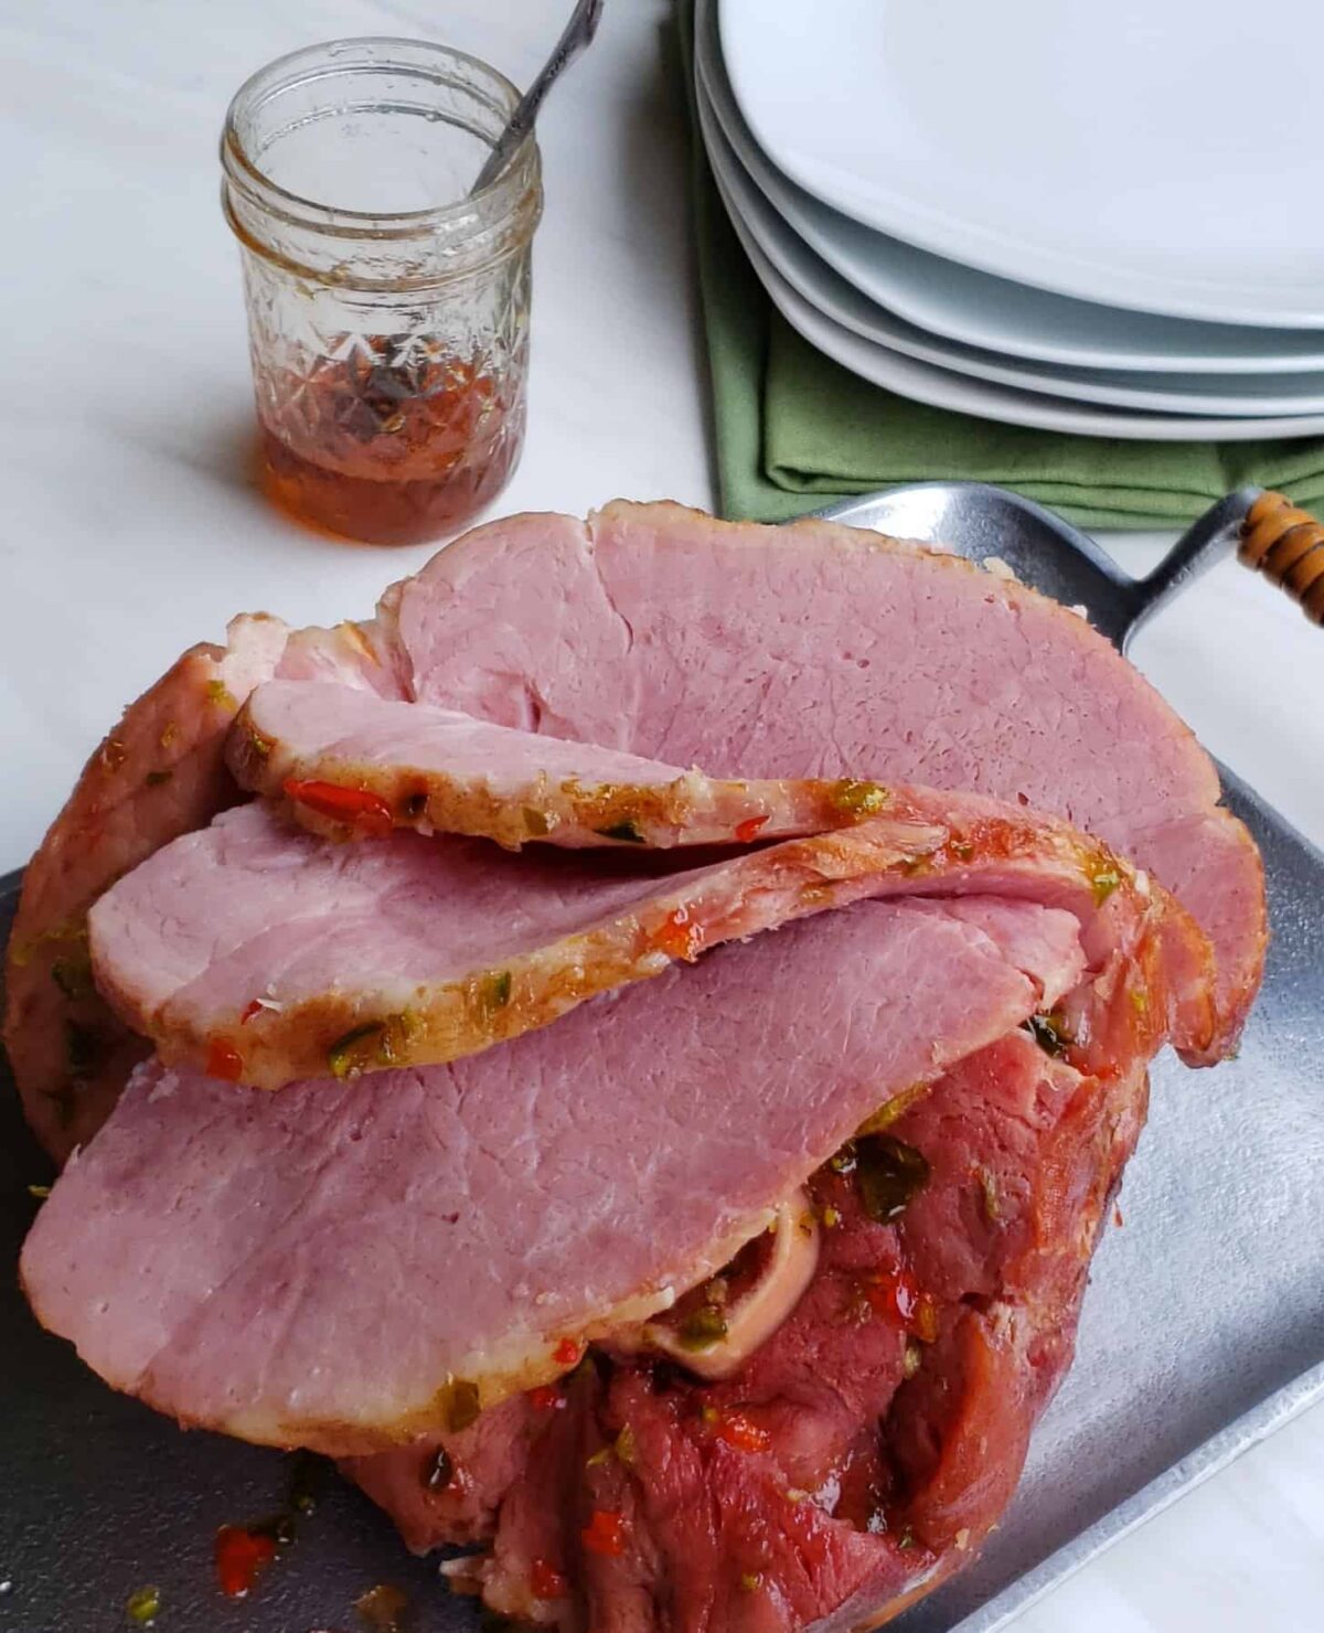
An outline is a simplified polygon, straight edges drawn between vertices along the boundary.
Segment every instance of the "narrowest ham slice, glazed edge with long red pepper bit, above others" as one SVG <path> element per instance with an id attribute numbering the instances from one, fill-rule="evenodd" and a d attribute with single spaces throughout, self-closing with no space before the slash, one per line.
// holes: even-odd
<path id="1" fill-rule="evenodd" d="M 870 803 L 849 779 L 713 781 L 331 683 L 260 686 L 230 733 L 229 761 L 243 787 L 333 839 L 397 826 L 511 851 L 531 839 L 568 849 L 746 844 L 847 826 Z M 327 805 L 327 785 L 349 790 L 348 813 Z"/>

